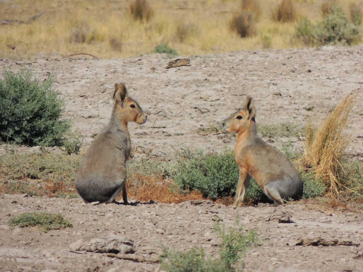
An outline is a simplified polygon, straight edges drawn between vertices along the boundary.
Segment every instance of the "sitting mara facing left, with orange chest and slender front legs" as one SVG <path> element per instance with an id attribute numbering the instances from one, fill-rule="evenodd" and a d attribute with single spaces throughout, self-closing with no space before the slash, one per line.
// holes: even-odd
<path id="1" fill-rule="evenodd" d="M 274 203 L 302 197 L 299 173 L 284 155 L 257 136 L 255 114 L 253 99 L 247 97 L 243 108 L 222 122 L 224 132 L 237 133 L 234 158 L 240 176 L 233 208 L 242 205 L 251 176 Z"/>

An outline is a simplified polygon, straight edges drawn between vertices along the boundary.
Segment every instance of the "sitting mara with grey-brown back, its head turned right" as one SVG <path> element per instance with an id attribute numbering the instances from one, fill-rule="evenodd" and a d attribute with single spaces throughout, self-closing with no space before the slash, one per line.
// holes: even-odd
<path id="1" fill-rule="evenodd" d="M 102 129 L 79 164 L 75 185 L 86 203 L 111 203 L 122 190 L 127 202 L 126 161 L 131 152 L 128 122 L 144 124 L 147 115 L 138 103 L 129 98 L 125 85 L 115 85 L 115 105 L 110 122 Z"/>

